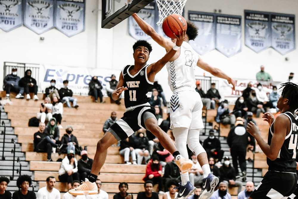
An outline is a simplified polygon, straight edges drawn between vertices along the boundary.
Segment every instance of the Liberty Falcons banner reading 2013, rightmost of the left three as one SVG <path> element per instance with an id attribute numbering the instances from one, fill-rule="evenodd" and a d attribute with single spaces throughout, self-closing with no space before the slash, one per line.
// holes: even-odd
<path id="1" fill-rule="evenodd" d="M 68 37 L 85 30 L 85 0 L 57 0 L 55 27 Z"/>

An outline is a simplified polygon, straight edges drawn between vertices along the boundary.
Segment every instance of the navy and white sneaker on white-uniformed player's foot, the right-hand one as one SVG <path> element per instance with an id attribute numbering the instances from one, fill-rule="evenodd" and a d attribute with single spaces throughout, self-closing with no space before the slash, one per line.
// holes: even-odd
<path id="1" fill-rule="evenodd" d="M 212 196 L 218 182 L 219 182 L 218 177 L 216 177 L 212 173 L 209 173 L 207 178 L 203 179 L 203 187 L 198 199 L 209 199 Z"/>

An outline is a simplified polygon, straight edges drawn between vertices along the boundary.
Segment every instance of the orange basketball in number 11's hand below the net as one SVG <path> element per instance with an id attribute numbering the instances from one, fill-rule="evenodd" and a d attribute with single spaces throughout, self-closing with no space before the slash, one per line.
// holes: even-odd
<path id="1" fill-rule="evenodd" d="M 169 38 L 175 39 L 175 35 L 179 36 L 178 30 L 182 33 L 182 29 L 187 29 L 187 23 L 184 17 L 177 14 L 171 14 L 164 19 L 162 30 Z M 175 33 L 175 35 L 173 35 Z"/>

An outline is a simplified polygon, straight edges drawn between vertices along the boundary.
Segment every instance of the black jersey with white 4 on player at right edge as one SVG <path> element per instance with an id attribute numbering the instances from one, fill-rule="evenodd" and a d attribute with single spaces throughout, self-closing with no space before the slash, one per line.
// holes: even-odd
<path id="1" fill-rule="evenodd" d="M 297 150 L 297 139 L 298 139 L 298 116 L 291 112 L 286 112 L 286 115 L 291 121 L 290 133 L 285 137 L 285 141 L 278 153 L 276 160 L 271 161 L 267 158 L 268 170 L 279 171 L 279 172 L 293 172 L 296 173 L 296 154 Z M 269 128 L 268 133 L 268 144 L 271 144 L 272 135 L 274 133 L 274 122 Z"/>

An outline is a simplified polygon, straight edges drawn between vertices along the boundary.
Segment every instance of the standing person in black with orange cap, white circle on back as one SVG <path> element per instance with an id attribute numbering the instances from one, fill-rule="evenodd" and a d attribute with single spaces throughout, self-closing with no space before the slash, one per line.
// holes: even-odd
<path id="1" fill-rule="evenodd" d="M 251 136 L 244 127 L 244 121 L 241 117 L 237 118 L 235 127 L 232 128 L 227 137 L 227 143 L 230 147 L 233 166 L 238 174 L 238 161 L 244 178 L 246 178 L 246 148 L 253 150 L 254 137 Z M 238 161 L 237 161 L 238 160 Z"/>

